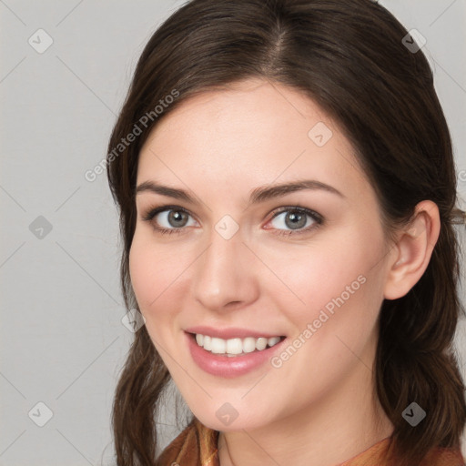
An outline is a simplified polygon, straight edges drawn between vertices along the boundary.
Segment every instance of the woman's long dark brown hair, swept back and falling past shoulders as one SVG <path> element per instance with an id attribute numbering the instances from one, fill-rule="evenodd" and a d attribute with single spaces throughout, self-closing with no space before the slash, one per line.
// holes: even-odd
<path id="1" fill-rule="evenodd" d="M 189 96 L 248 77 L 292 86 L 333 117 L 355 147 L 389 233 L 421 200 L 437 204 L 441 232 L 428 268 L 406 296 L 386 299 L 380 309 L 374 385 L 394 425 L 397 466 L 419 464 L 434 446 L 458 448 L 466 422 L 465 387 L 452 348 L 464 312 L 453 224 L 463 213 L 456 208 L 451 136 L 431 67 L 413 44 L 400 22 L 371 0 L 193 0 L 144 48 L 106 158 L 120 213 L 127 309 L 137 308 L 128 255 L 138 153 L 157 121 Z M 169 380 L 143 327 L 114 400 L 118 466 L 157 464 L 155 416 Z M 401 415 L 412 401 L 427 413 L 416 428 Z"/>

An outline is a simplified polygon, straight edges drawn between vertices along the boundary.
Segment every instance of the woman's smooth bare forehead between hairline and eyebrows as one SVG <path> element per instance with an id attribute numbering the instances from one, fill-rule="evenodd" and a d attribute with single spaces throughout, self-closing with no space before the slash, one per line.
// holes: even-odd
<path id="1" fill-rule="evenodd" d="M 187 98 L 163 117 L 141 149 L 137 183 L 154 176 L 228 191 L 313 177 L 350 194 L 370 189 L 353 152 L 308 96 L 250 79 Z"/>

